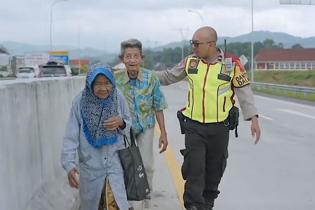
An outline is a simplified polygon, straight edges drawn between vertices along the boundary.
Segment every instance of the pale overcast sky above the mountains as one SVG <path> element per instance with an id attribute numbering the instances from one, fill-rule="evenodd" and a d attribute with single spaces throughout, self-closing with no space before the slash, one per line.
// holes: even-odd
<path id="1" fill-rule="evenodd" d="M 313 0 L 314 1 L 314 0 Z M 0 41 L 49 45 L 50 7 L 55 0 L 0 0 Z M 202 25 L 219 36 L 251 31 L 251 0 L 68 0 L 53 6 L 53 45 L 118 51 L 120 42 L 138 38 L 144 46 L 186 39 Z M 315 5 L 282 5 L 254 0 L 254 30 L 315 36 Z M 187 32 L 187 29 L 188 32 Z M 151 43 L 150 43 L 151 42 Z"/>

